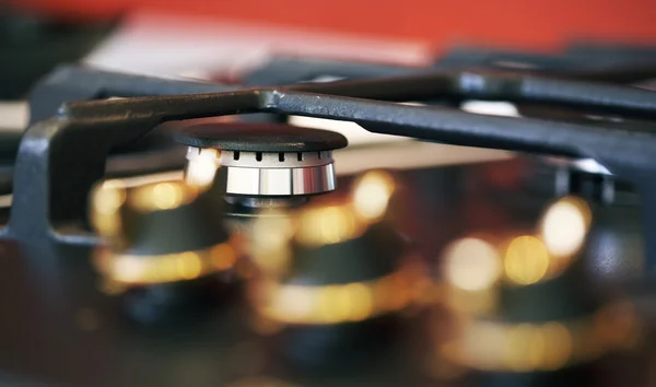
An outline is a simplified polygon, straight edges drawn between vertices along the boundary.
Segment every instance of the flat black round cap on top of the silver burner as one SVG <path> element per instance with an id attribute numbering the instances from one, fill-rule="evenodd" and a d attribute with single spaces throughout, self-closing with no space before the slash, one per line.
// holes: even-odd
<path id="1" fill-rule="evenodd" d="M 201 122 L 173 130 L 179 143 L 243 152 L 330 151 L 348 145 L 340 133 L 270 122 Z"/>

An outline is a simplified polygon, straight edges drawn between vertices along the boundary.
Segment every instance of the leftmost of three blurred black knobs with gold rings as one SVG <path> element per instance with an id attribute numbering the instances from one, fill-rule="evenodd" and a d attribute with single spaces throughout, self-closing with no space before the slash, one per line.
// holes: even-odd
<path id="1" fill-rule="evenodd" d="M 219 176 L 220 174 L 218 174 Z M 184 181 L 126 187 L 107 180 L 93 195 L 93 224 L 107 246 L 95 263 L 103 289 L 121 294 L 141 322 L 179 319 L 211 298 L 212 278 L 236 262 L 241 247 L 222 223 L 223 202 L 212 189 Z"/>

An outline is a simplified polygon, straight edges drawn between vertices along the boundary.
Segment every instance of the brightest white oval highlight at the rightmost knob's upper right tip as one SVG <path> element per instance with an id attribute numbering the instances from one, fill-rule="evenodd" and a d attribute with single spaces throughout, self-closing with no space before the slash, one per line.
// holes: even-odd
<path id="1" fill-rule="evenodd" d="M 565 197 L 551 204 L 541 222 L 541 237 L 551 255 L 566 258 L 578 253 L 591 222 L 588 204 L 581 198 Z"/>

